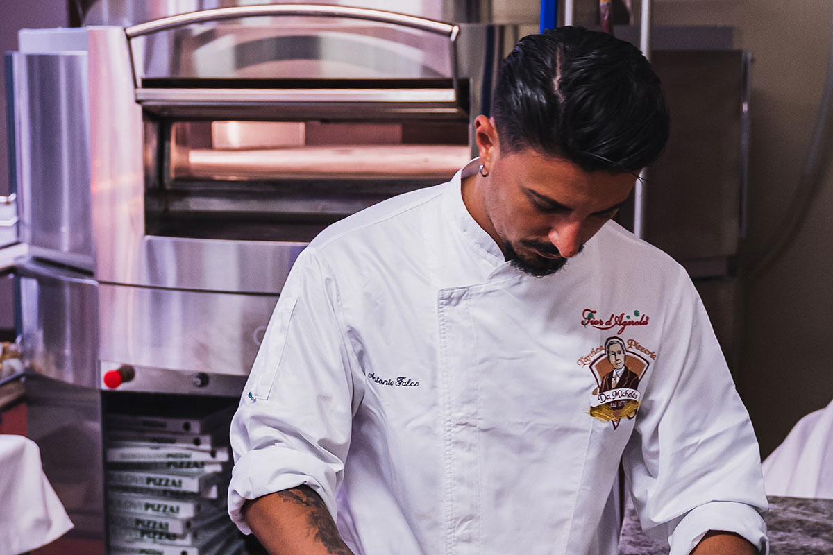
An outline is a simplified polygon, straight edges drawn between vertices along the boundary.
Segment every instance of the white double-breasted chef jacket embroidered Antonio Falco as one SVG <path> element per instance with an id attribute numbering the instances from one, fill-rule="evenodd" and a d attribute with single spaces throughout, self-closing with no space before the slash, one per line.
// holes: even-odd
<path id="1" fill-rule="evenodd" d="M 671 555 L 710 529 L 766 552 L 758 446 L 686 272 L 608 222 L 521 273 L 463 204 L 476 167 L 299 256 L 232 420 L 232 520 L 249 533 L 247 499 L 307 484 L 357 555 L 615 555 L 622 461 Z M 601 421 L 611 336 L 640 405 Z"/>

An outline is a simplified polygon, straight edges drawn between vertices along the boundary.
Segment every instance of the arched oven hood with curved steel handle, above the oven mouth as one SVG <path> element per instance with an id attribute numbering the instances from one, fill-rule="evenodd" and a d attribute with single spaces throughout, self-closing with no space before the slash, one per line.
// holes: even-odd
<path id="1" fill-rule="evenodd" d="M 227 19 L 245 19 L 247 17 L 274 17 L 281 16 L 276 19 L 270 27 L 267 27 L 266 34 L 251 25 L 232 26 L 206 26 L 206 23 L 216 24 Z M 288 25 L 285 17 L 307 17 L 307 18 L 327 18 L 328 25 L 332 27 L 320 27 L 318 22 L 310 22 L 306 19 L 290 20 Z M 345 21 L 342 21 L 345 20 Z M 394 28 L 376 27 L 364 28 L 356 27 L 352 24 L 352 20 L 380 22 L 388 24 Z M 337 22 L 342 24 L 337 24 Z M 346 23 L 349 23 L 346 24 Z M 401 31 L 398 27 L 406 27 L 410 29 L 417 29 L 424 32 L 434 33 L 445 37 L 447 42 L 445 45 L 430 45 L 422 40 L 421 45 L 408 44 L 408 41 L 414 41 L 416 37 L 391 37 L 391 33 L 398 33 Z M 180 27 L 187 27 L 180 29 Z M 312 28 L 310 28 L 312 27 Z M 205 12 L 186 13 L 164 19 L 143 23 L 135 27 L 129 27 L 126 30 L 129 39 L 137 39 L 145 37 L 146 35 L 154 35 L 157 33 L 166 32 L 172 29 L 178 29 L 182 32 L 170 36 L 167 33 L 166 37 L 160 40 L 152 40 L 157 37 L 147 37 L 146 41 L 138 40 L 131 42 L 132 62 L 134 66 L 134 80 L 137 85 L 137 97 L 139 102 L 152 101 L 156 105 L 165 102 L 189 103 L 196 104 L 217 104 L 232 106 L 241 106 L 246 102 L 255 102 L 255 109 L 257 103 L 271 103 L 273 105 L 282 105 L 289 102 L 303 102 L 307 108 L 310 104 L 322 104 L 323 106 L 314 106 L 314 110 L 322 113 L 322 108 L 326 108 L 328 104 L 339 102 L 378 102 L 378 103 L 392 103 L 394 108 L 404 113 L 406 109 L 402 107 L 414 107 L 415 103 L 425 103 L 426 110 L 444 109 L 441 105 L 443 103 L 451 103 L 451 106 L 445 107 L 451 115 L 467 116 L 462 113 L 459 107 L 455 106 L 457 99 L 457 92 L 459 89 L 459 81 L 457 75 L 455 41 L 460 27 L 444 22 L 432 21 L 422 17 L 413 17 L 405 14 L 381 12 L 378 10 L 370 10 L 366 8 L 357 7 L 340 7 L 340 6 L 321 6 L 321 5 L 305 5 L 305 4 L 281 4 L 281 5 L 259 5 L 259 6 L 242 6 L 242 7 L 228 7 L 214 10 L 207 10 Z M 287 31 L 288 30 L 288 31 Z M 242 35 L 241 35 L 242 32 Z M 289 33 L 284 34 L 284 33 Z M 164 33 L 163 33 L 164 34 Z M 191 46 L 188 46 L 188 45 Z M 229 47 L 236 52 L 232 58 L 227 58 L 222 54 L 226 52 L 215 52 L 212 61 L 207 64 L 198 62 L 197 57 L 200 52 L 207 52 L 212 50 L 214 44 L 222 45 L 220 48 L 226 52 Z M 302 45 L 307 45 L 310 52 L 302 53 Z M 436 46 L 437 52 L 431 52 L 431 56 L 427 56 L 427 52 L 432 50 L 432 46 Z M 405 52 L 403 52 L 405 48 Z M 444 53 L 439 50 L 445 50 Z M 177 62 L 168 62 L 169 65 L 176 65 L 169 70 L 169 75 L 166 77 L 179 76 L 182 77 L 182 67 L 193 65 L 195 67 L 206 66 L 200 69 L 192 70 L 192 77 L 209 77 L 210 74 L 216 74 L 216 77 L 243 77 L 243 72 L 247 67 L 263 66 L 267 64 L 272 67 L 272 70 L 267 70 L 261 67 L 258 70 L 258 75 L 261 77 L 377 77 L 387 78 L 392 77 L 410 77 L 406 74 L 400 74 L 403 69 L 412 66 L 412 57 L 416 52 L 417 58 L 422 58 L 416 65 L 416 77 L 421 77 L 421 73 L 426 69 L 430 72 L 430 67 L 426 66 L 424 59 L 428 58 L 436 60 L 437 58 L 445 57 L 447 60 L 446 71 L 441 71 L 440 75 L 445 75 L 451 78 L 451 87 L 446 90 L 431 90 L 424 88 L 419 90 L 408 89 L 407 87 L 397 87 L 393 91 L 386 91 L 371 87 L 364 87 L 364 90 L 351 90 L 349 88 L 342 90 L 333 90 L 323 87 L 323 89 L 306 89 L 306 90 L 263 90 L 263 89 L 244 89 L 237 91 L 209 91 L 209 90 L 195 90 L 191 87 L 187 89 L 174 89 L 172 91 L 152 90 L 148 95 L 147 92 L 142 92 L 142 88 L 146 88 L 146 78 L 152 76 L 148 64 L 153 64 L 154 58 L 158 58 L 159 51 L 180 52 L 177 56 Z M 291 52 L 287 60 L 286 52 Z M 347 54 L 347 57 L 345 57 Z M 156 55 L 156 56 L 155 56 Z M 242 55 L 242 56 L 241 56 Z M 193 60 L 192 60 L 193 57 Z M 245 58 L 248 62 L 240 62 L 241 58 Z M 231 62 L 231 67 L 225 67 L 223 60 Z M 233 62 L 232 62 L 233 60 Z M 298 67 L 297 62 L 305 60 L 304 67 Z M 378 62 L 382 62 L 382 67 L 374 68 L 373 66 Z M 276 71 L 281 67 L 282 62 L 288 62 L 290 72 L 287 75 L 285 72 Z M 369 62 L 369 66 L 367 66 Z M 393 63 L 397 62 L 397 63 Z M 241 64 L 242 67 L 238 67 Z M 294 65 L 293 65 L 294 64 Z M 286 63 L 284 63 L 286 65 Z M 329 65 L 330 69 L 327 69 Z M 207 69 L 212 67 L 212 69 Z M 217 74 L 217 67 L 225 67 L 220 69 Z M 322 67 L 323 69 L 318 69 Z M 333 70 L 332 67 L 336 67 Z M 345 67 L 351 69 L 347 71 Z M 364 67 L 365 72 L 372 69 L 381 71 L 370 71 L 367 74 L 362 74 L 362 70 L 356 74 L 358 67 Z M 302 71 L 298 71 L 302 69 Z M 332 74 L 332 72 L 345 72 L 344 75 Z M 320 75 L 319 75 L 320 73 Z M 351 75 L 352 73 L 352 75 Z M 430 73 L 429 73 L 430 74 Z M 191 74 L 187 75 L 191 76 Z M 251 77 L 251 76 L 249 76 Z M 150 88 L 150 87 L 147 87 Z M 235 94 L 237 92 L 237 95 Z M 240 96 L 242 95 L 242 98 Z M 432 104 L 438 104 L 437 108 Z M 382 104 L 382 109 L 384 108 Z M 409 106 L 411 105 L 411 106 Z M 287 109 L 287 106 L 282 106 Z M 369 109 L 378 110 L 380 107 L 369 107 Z M 343 107 L 342 107 L 343 110 Z M 327 116 L 327 114 L 325 114 Z"/>

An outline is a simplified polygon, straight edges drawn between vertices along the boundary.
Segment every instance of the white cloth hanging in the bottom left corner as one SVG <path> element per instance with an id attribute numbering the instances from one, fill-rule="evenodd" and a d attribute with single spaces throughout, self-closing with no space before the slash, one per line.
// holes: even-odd
<path id="1" fill-rule="evenodd" d="M 0 555 L 18 555 L 72 528 L 31 439 L 0 435 Z"/>

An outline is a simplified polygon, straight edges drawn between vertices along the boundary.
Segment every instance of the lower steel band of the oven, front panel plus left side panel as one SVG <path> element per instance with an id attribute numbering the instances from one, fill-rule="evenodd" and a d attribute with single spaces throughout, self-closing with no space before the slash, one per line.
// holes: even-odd
<path id="1" fill-rule="evenodd" d="M 182 374 L 246 376 L 277 301 L 277 295 L 101 284 L 37 262 L 17 272 L 27 367 L 91 388 L 100 385 L 99 360 Z M 157 393 L 169 387 L 164 380 L 137 379 L 137 384 Z"/>

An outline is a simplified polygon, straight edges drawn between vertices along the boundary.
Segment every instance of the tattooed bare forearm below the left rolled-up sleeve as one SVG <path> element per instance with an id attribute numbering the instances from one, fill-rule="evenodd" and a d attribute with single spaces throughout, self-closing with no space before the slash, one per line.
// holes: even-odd
<path id="1" fill-rule="evenodd" d="M 243 518 L 271 555 L 353 555 L 322 498 L 307 486 L 249 501 Z"/>

